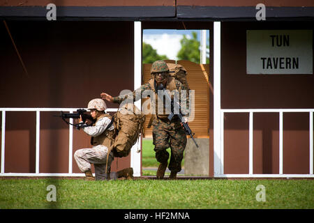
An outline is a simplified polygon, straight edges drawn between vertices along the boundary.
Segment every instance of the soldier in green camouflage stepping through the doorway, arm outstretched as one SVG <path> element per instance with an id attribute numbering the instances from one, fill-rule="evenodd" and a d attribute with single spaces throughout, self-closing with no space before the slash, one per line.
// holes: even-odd
<path id="1" fill-rule="evenodd" d="M 165 61 L 155 61 L 153 63 L 151 66 L 151 76 L 153 78 L 150 79 L 148 83 L 143 84 L 139 89 L 136 89 L 127 95 L 111 97 L 107 93 L 101 93 L 100 96 L 105 100 L 117 103 L 121 103 L 130 98 L 133 100 L 140 100 L 144 91 L 150 90 L 155 92 L 155 86 L 160 83 L 162 83 L 166 89 L 170 90 L 170 92 L 174 89 L 179 91 L 179 93 L 181 93 L 182 90 L 188 90 L 185 88 L 184 84 L 181 84 L 177 79 L 170 77 L 169 68 Z M 155 98 L 158 98 L 158 95 L 156 95 Z M 182 95 L 181 100 L 186 100 L 186 107 L 188 107 L 188 98 Z M 153 98 L 151 98 L 151 102 L 154 104 Z M 165 114 L 165 107 L 163 110 L 164 113 L 158 114 L 157 104 L 158 103 L 156 102 L 156 115 L 154 115 L 154 121 L 152 122 L 153 144 L 155 145 L 154 151 L 156 152 L 156 160 L 160 162 L 157 178 L 163 178 L 165 175 L 167 160 L 169 158 L 169 153 L 166 149 L 169 147 L 171 148 L 171 157 L 168 167 L 171 171 L 170 178 L 177 178 L 177 172 L 181 171 L 181 162 L 184 157 L 184 149 L 186 148 L 186 132 L 181 126 L 177 116 L 174 116 L 171 121 L 168 120 L 168 114 Z M 182 113 L 188 115 L 188 109 L 184 109 Z"/>

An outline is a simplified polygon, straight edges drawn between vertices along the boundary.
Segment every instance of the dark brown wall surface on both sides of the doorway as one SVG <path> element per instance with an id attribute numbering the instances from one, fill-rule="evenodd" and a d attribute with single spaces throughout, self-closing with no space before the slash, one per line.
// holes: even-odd
<path id="1" fill-rule="evenodd" d="M 132 22 L 8 22 L 8 25 L 27 66 L 29 77 L 24 74 L 6 30 L 0 24 L 0 44 L 3 49 L 0 54 L 0 107 L 86 107 L 87 102 L 91 98 L 97 98 L 102 91 L 117 95 L 122 89 L 133 89 Z M 100 29 L 101 27 L 105 29 Z M 209 29 L 210 64 L 213 64 L 212 22 L 142 22 L 142 27 Z M 313 22 L 222 22 L 222 108 L 313 108 L 313 75 L 246 75 L 247 29 L 311 27 Z M 112 76 L 111 73 L 115 75 Z M 213 73 L 213 66 L 210 66 L 210 73 Z M 209 82 L 209 176 L 213 176 L 213 75 L 209 75 Z M 117 105 L 108 104 L 108 107 Z M 45 119 L 49 118 L 43 115 L 43 121 Z M 306 174 L 309 165 L 308 114 L 284 113 L 283 119 L 283 172 Z M 15 120 L 18 123 L 14 123 Z M 35 127 L 28 123 L 34 123 L 35 120 L 36 116 L 32 112 L 24 115 L 7 113 L 7 130 L 13 132 L 6 132 L 6 171 L 24 171 L 25 168 L 34 171 L 35 138 L 30 135 L 35 132 Z M 21 121 L 25 122 L 22 127 L 19 125 Z M 56 138 L 66 144 L 68 133 L 63 131 L 66 131 L 67 125 L 61 121 L 58 124 L 49 121 L 52 122 L 48 120 L 47 124 L 40 123 L 42 128 L 57 125 L 54 127 L 57 130 L 43 132 L 43 137 L 40 135 L 40 141 L 43 140 L 40 146 L 45 145 L 45 139 L 54 141 Z M 253 173 L 278 174 L 278 114 L 255 114 L 253 121 Z M 26 133 L 22 134 L 23 131 Z M 20 135 L 24 137 L 19 137 L 17 143 L 14 140 Z M 55 144 L 50 144 L 51 150 L 49 148 L 45 151 L 43 148 L 44 151 L 40 153 L 40 159 L 44 162 L 48 162 L 50 156 L 57 157 L 60 160 L 59 166 L 51 164 L 48 168 L 45 166 L 48 164 L 40 163 L 40 171 L 67 170 L 68 164 L 64 160 L 68 159 L 68 148 L 65 148 L 66 152 L 61 148 L 53 151 L 56 147 L 54 145 L 59 143 L 56 141 Z M 73 152 L 76 148 L 87 145 L 89 138 L 75 130 Z M 22 154 L 27 159 L 16 159 L 10 154 Z M 121 163 L 129 164 L 129 161 Z M 120 166 L 122 168 L 122 164 L 119 163 L 118 166 L 119 169 Z M 77 171 L 75 162 L 73 171 Z M 248 173 L 248 114 L 225 115 L 225 174 L 237 173 Z"/>

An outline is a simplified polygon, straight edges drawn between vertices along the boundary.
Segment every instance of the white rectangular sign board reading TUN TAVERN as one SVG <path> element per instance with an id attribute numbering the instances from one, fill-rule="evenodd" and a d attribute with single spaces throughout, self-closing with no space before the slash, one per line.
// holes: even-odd
<path id="1" fill-rule="evenodd" d="M 246 73 L 313 74 L 313 31 L 246 31 Z"/>

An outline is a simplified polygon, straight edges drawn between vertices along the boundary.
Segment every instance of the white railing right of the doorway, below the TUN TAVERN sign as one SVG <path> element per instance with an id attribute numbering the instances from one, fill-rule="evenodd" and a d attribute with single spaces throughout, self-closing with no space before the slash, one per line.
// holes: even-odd
<path id="1" fill-rule="evenodd" d="M 224 174 L 224 114 L 225 113 L 248 113 L 249 114 L 249 168 L 248 174 Z M 279 113 L 279 174 L 253 174 L 253 114 L 259 112 L 275 112 Z M 309 161 L 310 168 L 309 174 L 283 174 L 283 113 L 285 112 L 306 112 L 309 114 Z M 218 158 L 220 160 L 220 173 L 215 174 L 215 177 L 314 177 L 313 175 L 313 112 L 314 109 L 220 109 L 220 154 Z"/>

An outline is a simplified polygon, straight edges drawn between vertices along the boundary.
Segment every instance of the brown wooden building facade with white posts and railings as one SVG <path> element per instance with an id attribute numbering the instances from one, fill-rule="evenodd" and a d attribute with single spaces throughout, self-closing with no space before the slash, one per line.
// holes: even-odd
<path id="1" fill-rule="evenodd" d="M 47 20 L 49 3 L 57 21 Z M 72 157 L 89 137 L 53 115 L 140 86 L 143 29 L 206 29 L 208 176 L 313 177 L 313 1 L 0 1 L 0 17 L 0 176 L 80 176 Z M 263 45 L 250 42 L 251 31 L 297 33 L 297 45 L 306 31 L 300 71 L 282 74 L 261 59 L 274 73 L 252 74 L 248 48 Z M 140 176 L 140 160 L 134 149 L 113 171 Z"/>

